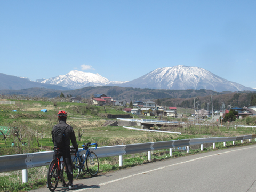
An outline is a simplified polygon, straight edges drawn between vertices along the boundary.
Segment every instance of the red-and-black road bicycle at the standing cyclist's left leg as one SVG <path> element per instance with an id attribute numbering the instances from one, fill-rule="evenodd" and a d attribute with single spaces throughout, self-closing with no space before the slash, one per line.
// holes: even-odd
<path id="1" fill-rule="evenodd" d="M 52 160 L 49 169 L 48 169 L 48 175 L 47 175 L 47 187 L 50 191 L 54 191 L 57 186 L 58 182 L 61 181 L 61 185 L 63 187 L 68 187 L 68 183 L 65 182 L 64 178 L 64 167 L 65 164 L 60 161 L 61 155 L 58 153 L 59 148 L 53 148 L 57 151 L 57 161 Z"/>

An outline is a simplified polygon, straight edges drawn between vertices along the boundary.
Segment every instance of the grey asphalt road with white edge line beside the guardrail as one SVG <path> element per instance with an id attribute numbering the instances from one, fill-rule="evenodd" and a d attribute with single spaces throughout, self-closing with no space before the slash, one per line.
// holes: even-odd
<path id="1" fill-rule="evenodd" d="M 74 180 L 73 191 L 256 191 L 256 145 L 189 155 Z M 36 192 L 49 191 L 41 188 Z M 68 191 L 58 187 L 55 191 Z"/>

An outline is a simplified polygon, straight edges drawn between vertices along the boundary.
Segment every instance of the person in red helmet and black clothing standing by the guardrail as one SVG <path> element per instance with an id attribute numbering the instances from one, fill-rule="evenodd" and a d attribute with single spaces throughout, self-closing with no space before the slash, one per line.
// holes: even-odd
<path id="1" fill-rule="evenodd" d="M 76 189 L 77 186 L 73 185 L 73 166 L 72 166 L 72 160 L 71 160 L 71 154 L 70 154 L 70 140 L 72 142 L 72 145 L 76 147 L 76 151 L 78 151 L 77 143 L 76 143 L 76 136 L 75 132 L 73 130 L 73 127 L 68 125 L 66 123 L 67 121 L 67 112 L 66 111 L 59 111 L 58 113 L 58 119 L 59 123 L 55 125 L 52 129 L 52 142 L 54 143 L 54 148 L 59 148 L 59 154 L 63 157 L 63 161 L 66 164 L 66 170 L 67 170 L 67 177 L 69 181 L 69 189 Z M 62 146 L 57 146 L 57 141 L 55 141 L 55 135 L 57 130 L 63 129 L 64 138 L 62 142 Z M 57 160 L 57 151 L 54 150 L 53 159 Z"/>

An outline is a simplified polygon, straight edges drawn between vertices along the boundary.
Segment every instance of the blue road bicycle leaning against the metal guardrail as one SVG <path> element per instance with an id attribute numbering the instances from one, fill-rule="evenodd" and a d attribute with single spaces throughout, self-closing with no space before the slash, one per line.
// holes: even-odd
<path id="1" fill-rule="evenodd" d="M 96 146 L 95 149 L 97 149 L 98 147 L 97 141 L 95 143 L 90 143 L 90 142 L 86 144 L 84 143 L 84 145 L 82 145 L 83 149 L 78 150 L 77 153 L 74 154 L 75 155 L 73 159 L 73 178 L 74 179 L 77 179 L 81 174 L 81 172 L 84 172 L 84 174 L 88 172 L 92 177 L 97 175 L 99 171 L 98 157 L 89 148 L 90 146 L 94 146 L 94 145 Z M 83 155 L 79 154 L 85 150 L 86 150 L 86 153 L 84 153 Z M 84 165 L 85 162 L 86 162 L 87 170 L 85 169 L 85 165 Z"/>

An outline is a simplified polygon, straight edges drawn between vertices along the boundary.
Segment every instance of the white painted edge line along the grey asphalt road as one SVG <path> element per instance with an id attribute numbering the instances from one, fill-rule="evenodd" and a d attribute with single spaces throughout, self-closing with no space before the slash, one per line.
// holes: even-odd
<path id="1" fill-rule="evenodd" d="M 256 146 L 254 146 L 254 147 L 249 147 L 249 148 L 245 148 L 245 149 L 250 149 L 250 148 L 255 148 L 255 147 L 256 147 Z M 193 161 L 196 161 L 196 160 L 199 160 L 199 159 L 203 159 L 203 158 L 206 158 L 206 157 L 211 157 L 211 156 L 214 156 L 214 155 L 226 154 L 226 153 L 230 153 L 230 152 L 234 152 L 234 151 L 239 151 L 239 150 L 245 150 L 245 149 L 236 149 L 236 150 L 231 150 L 231 151 L 225 151 L 225 152 L 218 153 L 218 154 L 207 155 L 207 156 L 204 156 L 204 157 L 198 157 L 198 158 L 195 158 L 195 159 L 191 159 L 191 160 L 189 160 L 189 161 L 180 162 L 180 163 L 175 163 L 175 164 L 172 164 L 172 165 L 163 166 L 163 167 L 159 167 L 159 168 L 157 168 L 157 169 L 153 169 L 153 170 L 149 170 L 149 171 L 144 171 L 144 172 L 137 173 L 137 174 L 133 174 L 133 175 L 129 175 L 129 176 L 126 176 L 126 177 L 123 177 L 123 178 L 115 179 L 115 180 L 112 180 L 112 181 L 103 182 L 103 183 L 100 183 L 99 185 L 94 185 L 94 186 L 91 186 L 91 187 L 88 187 L 88 188 L 79 189 L 79 190 L 76 190 L 76 191 L 74 191 L 74 192 L 85 191 L 85 190 L 92 189 L 92 188 L 99 188 L 100 186 L 108 185 L 109 183 L 113 183 L 113 182 L 116 182 L 116 181 L 121 181 L 121 180 L 124 180 L 124 179 L 127 179 L 127 178 L 131 178 L 131 177 L 134 177 L 134 176 L 137 176 L 137 175 L 149 173 L 149 172 L 152 172 L 152 171 L 165 169 L 166 167 L 171 167 L 171 166 L 175 166 L 175 165 L 180 165 L 180 164 L 184 164 L 184 163 L 189 163 L 189 162 L 193 162 Z"/>

